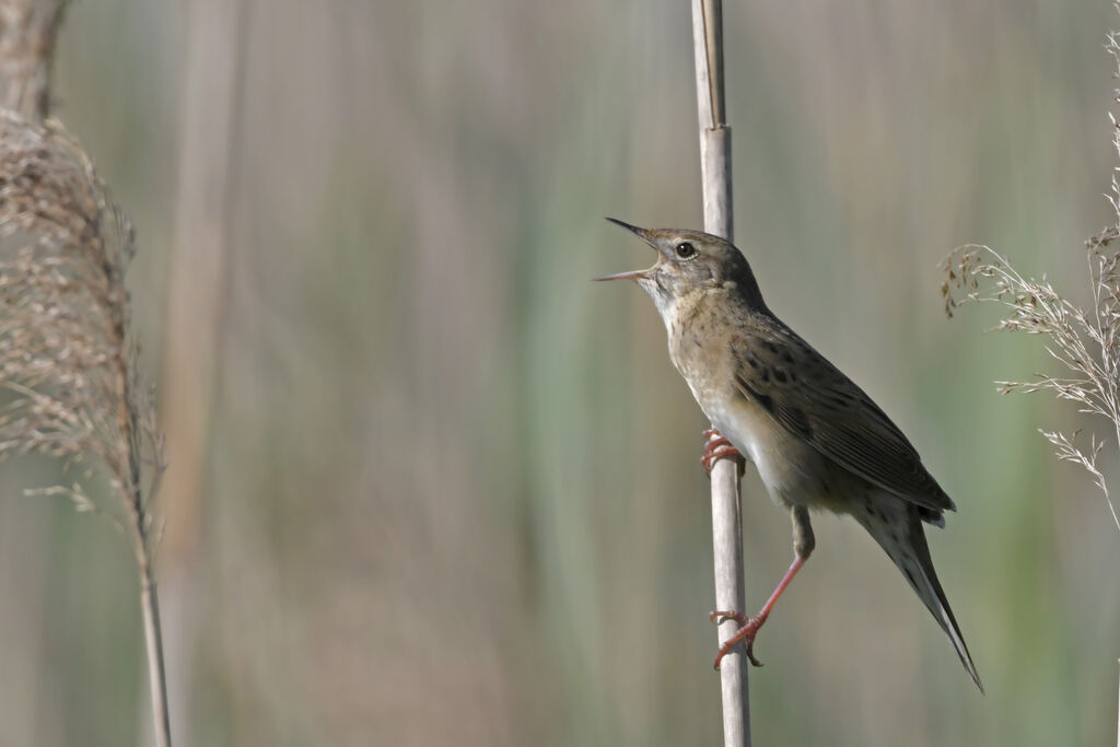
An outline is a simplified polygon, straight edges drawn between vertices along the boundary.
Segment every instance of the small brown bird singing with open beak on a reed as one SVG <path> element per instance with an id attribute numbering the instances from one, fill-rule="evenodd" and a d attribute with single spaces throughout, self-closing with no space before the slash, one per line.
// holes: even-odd
<path id="1" fill-rule="evenodd" d="M 754 617 L 711 613 L 740 627 L 752 664 L 758 629 L 815 547 L 810 511 L 850 515 L 875 539 L 949 636 L 980 692 L 949 599 L 934 571 L 924 525 L 943 527 L 953 501 L 902 430 L 862 389 L 769 309 L 746 256 L 700 231 L 641 228 L 607 218 L 653 246 L 646 270 L 596 278 L 635 280 L 657 307 L 673 366 L 711 421 L 702 464 L 722 457 L 754 463 L 772 501 L 790 512 L 794 560 Z"/>

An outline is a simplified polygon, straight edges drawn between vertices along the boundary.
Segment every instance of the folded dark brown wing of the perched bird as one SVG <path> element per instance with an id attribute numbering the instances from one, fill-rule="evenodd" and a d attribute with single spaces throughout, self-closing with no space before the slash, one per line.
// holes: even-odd
<path id="1" fill-rule="evenodd" d="M 740 392 L 788 431 L 867 482 L 931 510 L 931 520 L 955 510 L 898 427 L 793 330 L 775 320 L 734 347 Z"/>

